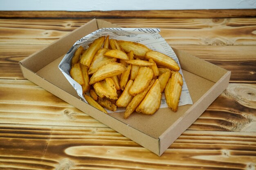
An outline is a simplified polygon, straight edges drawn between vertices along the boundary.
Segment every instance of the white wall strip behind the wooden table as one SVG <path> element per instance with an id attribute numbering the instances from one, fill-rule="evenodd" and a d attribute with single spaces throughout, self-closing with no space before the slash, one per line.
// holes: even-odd
<path id="1" fill-rule="evenodd" d="M 256 0 L 0 0 L 0 11 L 256 9 Z"/>

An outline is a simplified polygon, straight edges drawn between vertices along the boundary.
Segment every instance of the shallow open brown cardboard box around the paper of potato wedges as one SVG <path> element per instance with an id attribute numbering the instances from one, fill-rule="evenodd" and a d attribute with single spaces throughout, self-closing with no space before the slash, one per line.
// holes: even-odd
<path id="1" fill-rule="evenodd" d="M 179 106 L 176 113 L 169 108 L 160 108 L 154 115 L 134 113 L 128 119 L 123 118 L 123 113 L 107 115 L 83 102 L 58 68 L 76 40 L 107 27 L 118 26 L 93 19 L 30 55 L 20 61 L 23 76 L 160 156 L 227 88 L 230 71 L 173 49 L 180 61 L 193 105 Z"/>

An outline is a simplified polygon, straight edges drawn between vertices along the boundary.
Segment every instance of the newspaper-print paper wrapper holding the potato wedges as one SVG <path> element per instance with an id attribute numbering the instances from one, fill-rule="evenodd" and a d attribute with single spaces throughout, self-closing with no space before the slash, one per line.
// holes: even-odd
<path id="1" fill-rule="evenodd" d="M 101 36 L 109 35 L 110 39 L 116 40 L 125 40 L 125 41 L 132 41 L 138 42 L 141 44 L 146 45 L 149 49 L 153 51 L 158 51 L 160 53 L 164 53 L 169 57 L 173 58 L 180 66 L 180 62 L 174 53 L 173 49 L 168 45 L 168 43 L 162 38 L 159 34 L 160 29 L 156 28 L 102 28 L 85 37 L 81 38 L 80 40 L 76 41 L 75 44 L 71 47 L 71 49 L 67 52 L 67 54 L 63 57 L 63 60 L 59 64 L 59 69 L 63 73 L 63 75 L 67 78 L 70 84 L 74 87 L 77 94 L 86 102 L 85 98 L 83 97 L 82 86 L 78 84 L 74 79 L 70 76 L 70 68 L 71 68 L 71 59 L 79 46 L 83 46 L 84 49 L 87 49 L 90 43 L 92 43 L 95 39 Z M 180 67 L 181 68 L 181 67 Z M 180 74 L 183 77 L 182 69 L 180 69 Z M 87 102 L 86 102 L 87 103 Z M 189 94 L 188 87 L 186 85 L 186 81 L 183 77 L 183 86 L 182 86 L 182 93 L 180 96 L 179 106 L 186 105 L 186 104 L 193 104 L 192 99 Z M 168 107 L 166 104 L 166 100 L 164 97 L 164 93 L 162 93 L 162 100 L 160 108 Z M 116 112 L 124 111 L 125 108 L 118 108 Z M 112 112 L 107 110 L 108 112 Z"/>

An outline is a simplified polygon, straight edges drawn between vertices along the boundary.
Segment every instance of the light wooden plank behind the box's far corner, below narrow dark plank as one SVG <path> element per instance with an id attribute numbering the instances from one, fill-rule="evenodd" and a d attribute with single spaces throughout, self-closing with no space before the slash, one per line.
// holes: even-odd
<path id="1" fill-rule="evenodd" d="M 159 27 L 170 45 L 256 45 L 256 18 L 106 19 L 122 27 Z M 0 44 L 49 44 L 88 19 L 1 19 Z"/>

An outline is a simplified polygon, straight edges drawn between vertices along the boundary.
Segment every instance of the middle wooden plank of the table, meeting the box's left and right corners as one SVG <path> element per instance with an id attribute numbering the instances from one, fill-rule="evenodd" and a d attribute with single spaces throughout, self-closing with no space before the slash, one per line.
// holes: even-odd
<path id="1" fill-rule="evenodd" d="M 46 45 L 0 44 L 0 79 L 24 79 L 18 61 Z M 230 82 L 256 82 L 256 46 L 173 46 L 231 71 Z"/>

